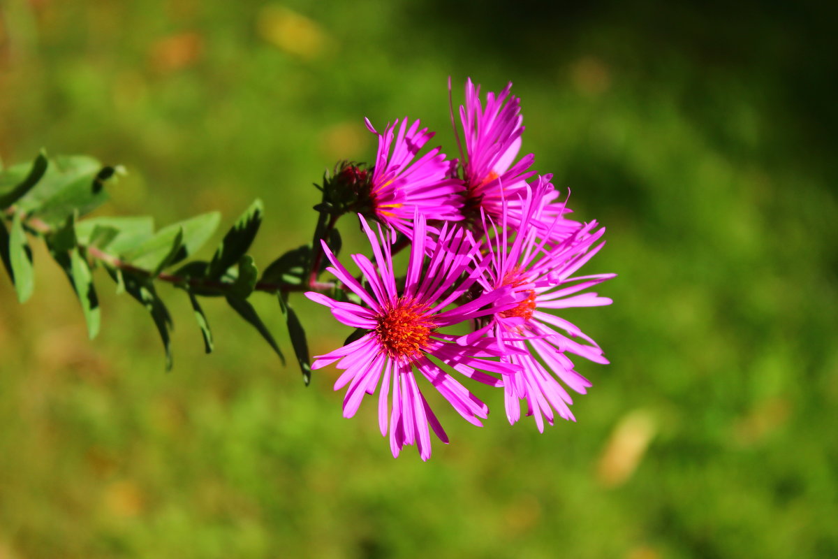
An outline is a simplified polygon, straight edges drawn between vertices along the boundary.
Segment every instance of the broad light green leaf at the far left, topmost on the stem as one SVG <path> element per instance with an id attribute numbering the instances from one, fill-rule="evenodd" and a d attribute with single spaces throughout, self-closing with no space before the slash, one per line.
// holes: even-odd
<path id="1" fill-rule="evenodd" d="M 23 196 L 18 207 L 49 225 L 56 225 L 77 212 L 85 215 L 107 199 L 98 179 L 101 163 L 87 156 L 55 158 L 34 189 Z"/>

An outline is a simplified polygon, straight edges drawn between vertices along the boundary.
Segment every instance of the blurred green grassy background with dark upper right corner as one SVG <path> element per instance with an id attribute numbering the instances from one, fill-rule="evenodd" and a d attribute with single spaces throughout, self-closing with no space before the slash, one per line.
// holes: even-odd
<path id="1" fill-rule="evenodd" d="M 477 429 L 394 460 L 370 401 L 341 417 L 222 303 L 203 355 L 183 293 L 174 370 L 97 276 L 86 339 L 35 252 L 0 281 L 0 558 L 838 556 L 835 13 L 802 3 L 3 0 L 0 155 L 90 153 L 129 176 L 100 214 L 158 225 L 255 197 L 265 264 L 308 241 L 310 184 L 408 114 L 453 153 L 448 75 L 513 80 L 524 149 L 608 227 L 608 308 L 566 316 L 612 365 L 578 422 Z M 212 246 L 204 249 L 211 251 Z M 313 353 L 346 329 L 297 298 Z M 291 352 L 275 301 L 256 306 Z"/>

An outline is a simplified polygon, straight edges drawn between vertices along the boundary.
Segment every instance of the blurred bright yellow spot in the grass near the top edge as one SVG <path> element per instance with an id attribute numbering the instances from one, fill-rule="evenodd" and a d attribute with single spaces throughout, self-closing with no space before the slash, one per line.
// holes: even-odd
<path id="1" fill-rule="evenodd" d="M 317 22 L 277 5 L 261 9 L 256 30 L 268 43 L 303 60 L 313 60 L 323 54 L 327 42 Z"/>

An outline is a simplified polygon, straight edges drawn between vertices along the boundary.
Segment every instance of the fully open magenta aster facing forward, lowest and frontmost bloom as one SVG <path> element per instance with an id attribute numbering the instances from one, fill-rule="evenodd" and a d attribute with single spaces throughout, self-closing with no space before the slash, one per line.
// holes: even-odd
<path id="1" fill-rule="evenodd" d="M 352 255 L 352 259 L 369 287 L 356 280 L 325 243 L 323 251 L 333 265 L 328 270 L 363 304 L 338 302 L 316 292 L 307 292 L 306 296 L 330 308 L 340 322 L 369 331 L 351 344 L 315 356 L 312 369 L 337 363 L 344 370 L 334 385 L 335 390 L 349 385 L 344 417 L 354 416 L 364 395 L 374 394 L 377 389 L 380 431 L 385 435 L 389 427 L 393 456 L 398 456 L 402 446 L 416 443 L 422 460 L 427 460 L 431 456 L 428 425 L 443 443 L 448 438 L 422 395 L 416 371 L 461 416 L 480 426 L 479 418 L 485 418 L 489 408 L 428 358 L 434 357 L 473 380 L 501 386 L 499 378 L 481 371 L 510 375 L 519 365 L 485 359 L 501 355 L 496 340 L 485 337 L 466 348 L 456 343 L 456 336 L 442 334 L 439 329 L 496 313 L 499 308 L 513 308 L 514 302 L 502 307 L 494 304 L 508 296 L 512 287 L 487 290 L 469 303 L 447 308 L 473 286 L 488 266 L 489 257 L 480 254 L 470 232 L 458 226 L 449 229 L 447 224 L 429 248 L 426 221 L 418 212 L 406 279 L 403 286 L 397 286 L 391 257 L 395 231 L 385 233 L 379 227 L 376 236 L 362 216 L 360 220 L 370 239 L 375 264 L 360 254 Z"/>

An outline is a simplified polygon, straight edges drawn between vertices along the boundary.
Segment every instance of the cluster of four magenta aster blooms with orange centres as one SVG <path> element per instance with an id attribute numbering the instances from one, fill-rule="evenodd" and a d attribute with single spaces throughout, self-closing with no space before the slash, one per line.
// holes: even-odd
<path id="1" fill-rule="evenodd" d="M 523 119 L 510 91 L 511 84 L 483 101 L 468 80 L 459 160 L 440 148 L 420 155 L 432 133 L 419 121 L 396 121 L 384 133 L 367 121 L 379 138 L 375 166 L 340 170 L 372 258 L 351 255 L 358 272 L 349 272 L 322 243 L 345 292 L 307 296 L 360 337 L 318 355 L 312 368 L 344 371 L 334 385 L 345 388 L 344 417 L 378 393 L 380 431 L 394 456 L 416 444 L 429 458 L 431 431 L 448 442 L 428 390 L 480 426 L 489 408 L 463 381 L 502 388 L 510 423 L 523 401 L 543 431 L 556 414 L 575 419 L 569 391 L 591 386 L 572 357 L 608 363 L 596 342 L 556 314 L 611 303 L 590 289 L 614 274 L 577 275 L 603 247 L 604 229 L 568 219 L 551 175 L 532 169 L 531 153 L 519 157 Z M 401 273 L 393 254 L 406 246 Z"/>

